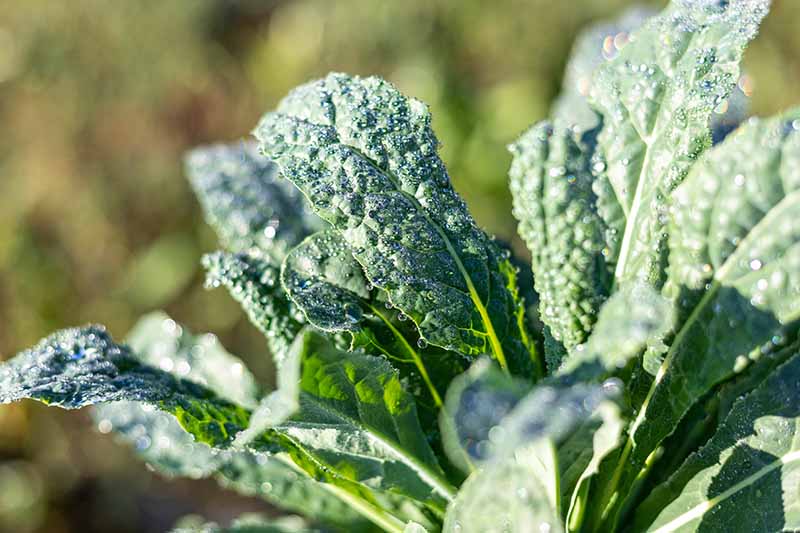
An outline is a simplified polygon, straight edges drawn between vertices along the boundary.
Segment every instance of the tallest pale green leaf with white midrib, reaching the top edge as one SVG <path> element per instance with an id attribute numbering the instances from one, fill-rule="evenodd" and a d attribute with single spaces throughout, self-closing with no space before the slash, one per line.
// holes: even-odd
<path id="1" fill-rule="evenodd" d="M 595 74 L 606 182 L 598 191 L 618 232 L 609 243 L 617 281 L 663 282 L 666 199 L 711 145 L 714 109 L 735 87 L 768 9 L 768 0 L 672 2 Z"/>

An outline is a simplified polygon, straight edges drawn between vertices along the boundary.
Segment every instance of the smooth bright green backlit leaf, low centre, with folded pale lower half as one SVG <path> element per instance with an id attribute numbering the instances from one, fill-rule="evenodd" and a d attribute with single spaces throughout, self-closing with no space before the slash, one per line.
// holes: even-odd
<path id="1" fill-rule="evenodd" d="M 382 358 L 342 352 L 322 337 L 307 349 L 300 410 L 274 429 L 305 459 L 337 476 L 443 510 L 454 489 L 397 371 Z"/>

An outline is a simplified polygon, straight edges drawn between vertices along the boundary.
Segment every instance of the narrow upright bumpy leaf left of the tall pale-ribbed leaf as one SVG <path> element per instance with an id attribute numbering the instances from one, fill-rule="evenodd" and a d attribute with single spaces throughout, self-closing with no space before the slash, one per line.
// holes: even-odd
<path id="1" fill-rule="evenodd" d="M 511 147 L 514 215 L 531 250 L 539 316 L 566 350 L 586 340 L 613 277 L 608 230 L 592 190 L 593 135 L 541 123 Z M 551 371 L 563 355 L 548 351 Z"/>

